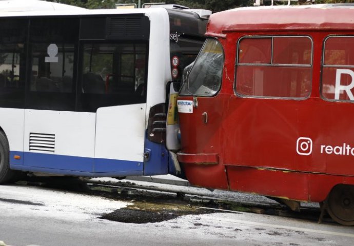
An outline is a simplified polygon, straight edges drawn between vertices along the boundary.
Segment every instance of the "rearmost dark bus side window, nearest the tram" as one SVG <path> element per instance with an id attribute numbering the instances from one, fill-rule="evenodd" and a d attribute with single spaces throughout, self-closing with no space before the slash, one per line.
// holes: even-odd
<path id="1" fill-rule="evenodd" d="M 82 111 L 146 102 L 146 44 L 89 43 L 82 53 Z"/>

